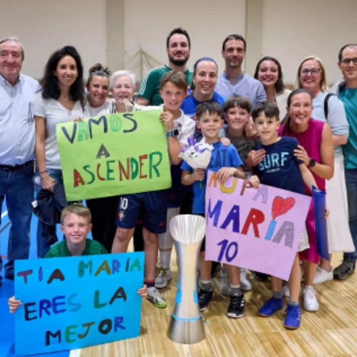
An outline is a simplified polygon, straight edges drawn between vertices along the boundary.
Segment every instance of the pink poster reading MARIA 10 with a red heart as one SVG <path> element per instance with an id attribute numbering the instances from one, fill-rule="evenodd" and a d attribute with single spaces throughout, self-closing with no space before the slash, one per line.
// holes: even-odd
<path id="1" fill-rule="evenodd" d="M 289 279 L 311 198 L 209 171 L 206 259 Z"/>

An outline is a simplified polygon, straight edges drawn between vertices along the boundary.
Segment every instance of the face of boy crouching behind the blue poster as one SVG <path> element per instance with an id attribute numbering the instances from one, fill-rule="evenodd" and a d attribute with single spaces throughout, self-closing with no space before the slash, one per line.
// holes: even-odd
<path id="1" fill-rule="evenodd" d="M 87 217 L 81 217 L 74 213 L 67 215 L 61 225 L 63 234 L 71 244 L 82 243 L 87 238 L 91 229 L 92 225 L 89 223 Z"/>

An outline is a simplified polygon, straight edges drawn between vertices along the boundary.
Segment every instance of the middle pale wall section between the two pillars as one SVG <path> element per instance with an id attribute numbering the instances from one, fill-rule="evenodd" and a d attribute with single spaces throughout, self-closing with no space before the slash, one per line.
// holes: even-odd
<path id="1" fill-rule="evenodd" d="M 223 71 L 222 41 L 231 33 L 244 34 L 245 12 L 245 0 L 125 0 L 125 65 L 140 73 L 139 58 L 133 60 L 140 47 L 158 63 L 167 63 L 166 37 L 175 27 L 183 27 L 192 43 L 189 68 L 200 57 L 210 56 Z"/>

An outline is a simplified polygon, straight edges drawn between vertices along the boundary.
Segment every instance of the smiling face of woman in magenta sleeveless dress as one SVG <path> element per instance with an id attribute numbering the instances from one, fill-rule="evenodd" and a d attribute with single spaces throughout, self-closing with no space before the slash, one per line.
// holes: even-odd
<path id="1" fill-rule="evenodd" d="M 306 125 L 311 118 L 312 102 L 308 93 L 295 94 L 291 98 L 290 106 L 287 108 L 290 114 L 290 122 L 294 125 Z"/>

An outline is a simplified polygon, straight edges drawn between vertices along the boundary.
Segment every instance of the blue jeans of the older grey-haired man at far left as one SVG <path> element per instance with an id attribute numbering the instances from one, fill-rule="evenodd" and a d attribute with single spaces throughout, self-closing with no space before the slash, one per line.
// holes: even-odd
<path id="1" fill-rule="evenodd" d="M 5 276 L 9 278 L 14 277 L 14 261 L 16 259 L 29 259 L 31 202 L 34 199 L 33 176 L 33 161 L 28 161 L 15 169 L 0 167 L 0 209 L 3 206 L 4 199 L 6 199 L 11 222 L 8 263 L 4 267 Z M 0 255 L 0 271 L 2 268 L 3 260 Z"/>

